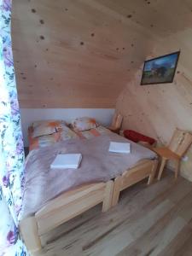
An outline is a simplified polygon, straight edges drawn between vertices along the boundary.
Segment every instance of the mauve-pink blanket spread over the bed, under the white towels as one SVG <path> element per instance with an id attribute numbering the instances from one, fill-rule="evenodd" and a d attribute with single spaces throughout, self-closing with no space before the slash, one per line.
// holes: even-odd
<path id="1" fill-rule="evenodd" d="M 109 143 L 131 143 L 131 154 L 109 153 Z M 60 153 L 81 153 L 79 169 L 52 170 L 50 164 Z M 72 139 L 34 149 L 26 159 L 23 218 L 37 212 L 57 195 L 85 183 L 107 182 L 135 166 L 138 160 L 154 159 L 156 154 L 112 132 L 89 140 Z"/>

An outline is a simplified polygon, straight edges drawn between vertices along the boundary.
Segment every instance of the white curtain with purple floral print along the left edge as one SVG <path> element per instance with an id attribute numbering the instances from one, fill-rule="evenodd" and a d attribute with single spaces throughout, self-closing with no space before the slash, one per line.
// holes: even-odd
<path id="1" fill-rule="evenodd" d="M 10 22 L 11 0 L 0 0 L 0 256 L 27 255 L 18 232 L 24 153 Z"/>

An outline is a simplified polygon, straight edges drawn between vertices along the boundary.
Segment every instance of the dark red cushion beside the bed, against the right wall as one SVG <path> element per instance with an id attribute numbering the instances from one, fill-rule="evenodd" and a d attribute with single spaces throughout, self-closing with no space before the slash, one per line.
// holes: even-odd
<path id="1" fill-rule="evenodd" d="M 124 136 L 134 143 L 145 142 L 145 143 L 149 143 L 150 145 L 153 145 L 154 143 L 156 143 L 156 140 L 154 138 L 144 136 L 143 134 L 137 131 L 125 130 Z"/>

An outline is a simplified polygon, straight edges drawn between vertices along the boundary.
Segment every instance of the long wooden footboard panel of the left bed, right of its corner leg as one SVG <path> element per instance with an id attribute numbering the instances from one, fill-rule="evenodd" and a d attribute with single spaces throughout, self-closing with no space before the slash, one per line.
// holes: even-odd
<path id="1" fill-rule="evenodd" d="M 112 183 L 112 184 L 111 184 Z M 109 188 L 113 187 L 113 182 L 109 182 Z M 81 186 L 49 201 L 45 207 L 35 213 L 38 223 L 38 235 L 43 235 L 49 230 L 53 230 L 58 225 L 78 216 L 91 207 L 104 201 L 104 208 L 107 211 L 111 206 L 111 197 L 106 192 L 108 183 L 96 183 Z M 107 198 L 105 198 L 107 196 Z M 108 204 L 108 207 L 106 207 Z"/>

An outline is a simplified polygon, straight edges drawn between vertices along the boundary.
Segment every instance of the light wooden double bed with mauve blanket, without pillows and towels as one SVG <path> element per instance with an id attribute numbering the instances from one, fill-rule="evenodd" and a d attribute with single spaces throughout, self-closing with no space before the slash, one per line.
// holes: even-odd
<path id="1" fill-rule="evenodd" d="M 32 135 L 30 132 L 29 137 Z M 148 177 L 148 184 L 153 182 L 157 159 L 148 148 L 129 141 L 131 151 L 138 154 L 133 154 L 134 157 L 128 160 L 125 154 L 108 153 L 109 142 L 127 142 L 124 137 L 102 126 L 73 132 L 74 137 L 68 140 L 62 140 L 62 135 L 57 134 L 54 143 L 51 140 L 51 144 L 40 148 L 37 142 L 34 147 L 34 141 L 30 140 L 31 152 L 26 159 L 28 192 L 24 195 L 20 232 L 31 253 L 41 250 L 40 237 L 49 230 L 99 203 L 102 203 L 102 212 L 108 211 L 118 203 L 120 191 L 143 178 Z M 65 177 L 56 170 L 44 172 L 58 152 L 75 153 L 74 148 L 81 150 L 84 156 L 78 172 L 69 170 L 65 172 Z M 60 178 L 53 183 L 54 176 Z M 83 177 L 86 177 L 84 182 Z M 38 196 L 34 194 L 37 191 Z"/>

